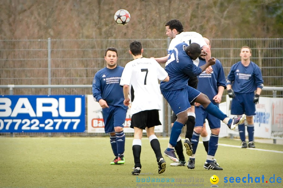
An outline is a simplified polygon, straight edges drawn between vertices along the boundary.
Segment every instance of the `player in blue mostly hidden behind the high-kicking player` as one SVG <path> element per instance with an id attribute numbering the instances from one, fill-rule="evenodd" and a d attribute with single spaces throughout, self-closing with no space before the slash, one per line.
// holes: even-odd
<path id="1" fill-rule="evenodd" d="M 210 41 L 205 38 L 206 43 L 210 47 Z M 202 66 L 206 63 L 204 56 L 199 57 L 199 65 Z M 221 102 L 221 97 L 224 89 L 226 88 L 225 84 L 225 74 L 223 67 L 219 60 L 216 60 L 215 65 L 212 65 L 213 72 L 208 74 L 206 72 L 202 72 L 198 76 L 198 85 L 197 90 L 206 94 L 209 100 L 219 107 L 219 103 Z M 211 130 L 211 136 L 208 142 L 208 151 L 207 151 L 207 160 L 204 164 L 204 168 L 213 169 L 213 170 L 223 170 L 217 163 L 216 159 L 214 159 L 216 150 L 218 148 L 218 135 L 220 131 L 220 120 L 215 116 L 209 114 L 202 105 L 196 103 L 195 113 L 196 113 L 196 124 L 193 131 L 193 135 L 191 138 L 191 144 L 193 148 L 193 154 L 191 155 L 187 167 L 189 169 L 195 168 L 195 154 L 197 151 L 197 146 L 199 142 L 199 137 L 205 129 L 205 119 L 208 120 L 208 124 Z M 206 132 L 206 131 L 205 131 Z M 206 132 L 207 134 L 207 132 Z M 207 136 L 207 135 L 206 135 Z M 203 141 L 204 143 L 205 141 Z M 207 150 L 207 149 L 206 149 Z M 212 163 L 213 162 L 213 163 Z M 209 164 L 209 165 L 208 165 Z"/>

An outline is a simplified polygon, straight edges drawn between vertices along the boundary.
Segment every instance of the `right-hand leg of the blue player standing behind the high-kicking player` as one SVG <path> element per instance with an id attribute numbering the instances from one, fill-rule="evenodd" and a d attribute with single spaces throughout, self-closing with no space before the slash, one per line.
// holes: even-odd
<path id="1" fill-rule="evenodd" d="M 220 132 L 220 120 L 214 117 L 211 114 L 207 115 L 208 124 L 211 130 L 209 143 L 208 143 L 208 153 L 207 158 L 204 163 L 205 169 L 212 169 L 212 170 L 223 170 L 217 163 L 216 160 L 214 161 L 214 156 L 216 154 L 218 148 L 218 138 Z"/>

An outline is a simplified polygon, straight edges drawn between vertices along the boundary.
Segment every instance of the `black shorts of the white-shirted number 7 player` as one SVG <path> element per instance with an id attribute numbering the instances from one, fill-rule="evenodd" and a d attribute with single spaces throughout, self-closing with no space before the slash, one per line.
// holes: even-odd
<path id="1" fill-rule="evenodd" d="M 130 128 L 145 129 L 161 125 L 158 110 L 145 110 L 132 115 Z"/>

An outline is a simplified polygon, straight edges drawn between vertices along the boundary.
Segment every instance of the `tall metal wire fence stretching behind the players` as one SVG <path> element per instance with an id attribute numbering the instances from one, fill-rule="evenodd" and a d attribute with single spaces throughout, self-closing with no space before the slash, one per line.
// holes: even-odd
<path id="1" fill-rule="evenodd" d="M 128 52 L 132 40 L 0 40 L 0 85 L 91 85 L 95 73 L 106 65 L 104 53 L 108 47 L 117 48 L 118 65 L 125 66 L 132 60 Z M 167 55 L 168 39 L 137 40 L 142 42 L 144 57 Z M 252 49 L 251 60 L 261 68 L 264 86 L 283 86 L 283 39 L 211 39 L 210 41 L 212 56 L 221 61 L 226 76 L 231 65 L 241 60 L 239 55 L 241 47 L 249 46 Z M 1 95 L 9 95 L 8 88 L 0 88 L 0 92 Z M 87 87 L 14 88 L 13 94 L 88 95 L 92 94 L 92 90 Z M 225 95 L 226 91 L 222 102 L 226 100 Z M 272 91 L 262 91 L 264 97 L 272 97 L 272 95 Z M 277 97 L 283 97 L 283 91 L 277 91 Z M 167 124 L 167 115 L 165 119 Z"/>

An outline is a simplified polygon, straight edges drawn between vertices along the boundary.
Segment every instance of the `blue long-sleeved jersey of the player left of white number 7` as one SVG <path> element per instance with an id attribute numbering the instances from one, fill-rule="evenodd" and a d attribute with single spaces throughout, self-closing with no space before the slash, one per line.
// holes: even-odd
<path id="1" fill-rule="evenodd" d="M 104 67 L 95 74 L 92 82 L 92 95 L 97 102 L 103 99 L 108 106 L 120 106 L 127 109 L 124 105 L 123 87 L 120 86 L 123 70 L 121 66 L 114 69 Z"/>

